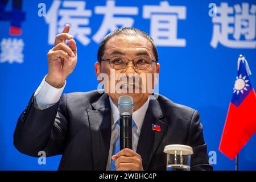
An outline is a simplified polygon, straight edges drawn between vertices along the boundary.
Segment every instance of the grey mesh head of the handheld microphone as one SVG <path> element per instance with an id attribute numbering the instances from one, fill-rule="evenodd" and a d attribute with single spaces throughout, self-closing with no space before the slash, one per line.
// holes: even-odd
<path id="1" fill-rule="evenodd" d="M 133 115 L 133 97 L 131 96 L 120 96 L 118 99 L 117 108 L 120 115 Z"/>

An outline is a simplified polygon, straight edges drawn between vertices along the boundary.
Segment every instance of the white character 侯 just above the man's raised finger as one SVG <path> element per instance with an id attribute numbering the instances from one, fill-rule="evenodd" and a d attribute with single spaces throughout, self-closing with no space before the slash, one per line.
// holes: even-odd
<path id="1" fill-rule="evenodd" d="M 91 28 L 88 25 L 92 11 L 86 10 L 85 6 L 84 1 L 63 1 L 63 9 L 60 9 L 61 1 L 53 1 L 45 17 L 49 24 L 48 44 L 54 44 L 55 36 L 61 33 L 67 23 L 72 27 L 69 34 L 79 40 L 83 46 L 90 43 L 88 35 L 91 33 Z"/>

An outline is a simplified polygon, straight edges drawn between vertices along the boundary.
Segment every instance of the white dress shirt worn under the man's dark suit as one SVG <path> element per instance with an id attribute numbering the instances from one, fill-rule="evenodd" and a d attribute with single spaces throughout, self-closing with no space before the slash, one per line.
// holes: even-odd
<path id="1" fill-rule="evenodd" d="M 65 85 L 62 88 L 55 88 L 51 85 L 49 85 L 45 78 L 39 85 L 38 89 L 36 89 L 36 92 L 34 94 L 35 97 L 35 104 L 38 109 L 46 109 L 58 102 L 60 100 L 61 94 L 63 93 L 63 90 L 65 88 Z M 116 105 L 114 105 L 113 101 L 109 97 L 110 106 L 111 106 L 111 113 L 112 113 L 112 132 L 111 132 L 111 139 L 110 139 L 110 147 L 109 147 L 109 156 L 108 156 L 108 164 L 106 166 L 106 170 L 110 169 L 111 165 L 111 157 L 113 154 L 113 146 L 115 140 L 119 137 L 119 125 L 116 125 L 116 122 L 119 119 L 119 111 Z M 133 120 L 135 122 L 135 126 L 132 129 L 133 132 L 133 150 L 137 150 L 138 140 L 139 140 L 139 134 L 141 133 L 142 124 L 144 121 L 144 117 L 147 111 L 147 107 L 149 104 L 149 98 L 148 100 L 137 110 L 133 112 Z"/>

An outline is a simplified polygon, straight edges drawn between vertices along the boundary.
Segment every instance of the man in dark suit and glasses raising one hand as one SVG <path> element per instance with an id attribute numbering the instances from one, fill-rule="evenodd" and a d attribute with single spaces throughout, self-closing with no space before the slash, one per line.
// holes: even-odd
<path id="1" fill-rule="evenodd" d="M 48 52 L 47 76 L 18 119 L 14 145 L 20 152 L 31 156 L 38 156 L 39 151 L 47 156 L 61 154 L 60 170 L 166 170 L 164 146 L 185 144 L 193 147 L 191 170 L 212 169 L 199 113 L 152 94 L 160 65 L 150 36 L 135 28 L 107 35 L 95 64 L 98 81 L 105 81 L 104 90 L 61 96 L 77 61 L 76 43 L 68 31 L 66 25 L 56 36 L 55 46 Z M 114 79 L 112 92 L 113 71 L 114 76 L 122 74 L 123 80 L 133 75 L 139 84 L 120 84 Z M 143 81 L 135 73 L 151 77 Z M 145 85 L 150 89 L 142 92 Z M 133 150 L 114 152 L 119 134 L 116 105 L 123 95 L 134 101 Z M 160 131 L 152 130 L 152 125 L 159 126 Z"/>

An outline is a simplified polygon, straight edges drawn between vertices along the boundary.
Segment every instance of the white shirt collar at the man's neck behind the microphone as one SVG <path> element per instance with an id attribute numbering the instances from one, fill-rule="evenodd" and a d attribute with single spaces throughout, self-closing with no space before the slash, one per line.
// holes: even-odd
<path id="1" fill-rule="evenodd" d="M 117 108 L 117 106 L 113 103 L 112 99 L 109 97 L 109 101 L 110 101 L 110 106 L 111 106 L 111 110 L 112 110 L 112 125 L 115 124 L 115 122 L 118 121 L 119 119 L 119 110 Z M 144 121 L 144 117 L 148 108 L 148 104 L 149 104 L 149 98 L 148 100 L 141 106 L 139 107 L 139 109 L 135 110 L 133 112 L 133 120 L 136 124 L 136 126 L 141 130 L 142 128 L 142 124 Z"/>

